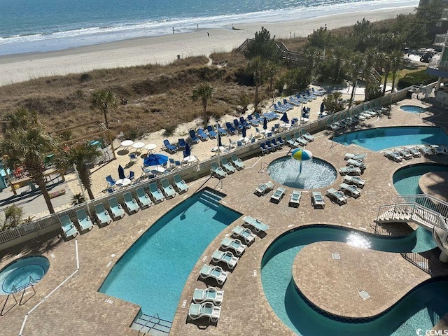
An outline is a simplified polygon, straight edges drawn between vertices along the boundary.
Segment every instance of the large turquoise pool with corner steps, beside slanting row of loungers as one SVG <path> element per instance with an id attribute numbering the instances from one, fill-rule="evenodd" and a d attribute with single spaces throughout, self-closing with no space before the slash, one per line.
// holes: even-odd
<path id="1" fill-rule="evenodd" d="M 173 321 L 198 258 L 241 214 L 209 198 L 207 190 L 156 221 L 113 267 L 99 291 L 141 306 L 144 314 Z"/>

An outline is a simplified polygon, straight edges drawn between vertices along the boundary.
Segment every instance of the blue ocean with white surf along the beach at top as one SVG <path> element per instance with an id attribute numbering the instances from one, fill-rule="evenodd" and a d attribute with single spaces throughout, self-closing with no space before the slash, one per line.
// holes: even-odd
<path id="1" fill-rule="evenodd" d="M 0 55 L 417 6 L 418 0 L 0 0 Z"/>

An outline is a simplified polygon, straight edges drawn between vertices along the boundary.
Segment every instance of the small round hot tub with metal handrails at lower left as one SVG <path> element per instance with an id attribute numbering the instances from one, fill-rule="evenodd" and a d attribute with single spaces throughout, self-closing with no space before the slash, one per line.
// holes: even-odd
<path id="1" fill-rule="evenodd" d="M 0 294 L 18 292 L 40 281 L 47 273 L 50 261 L 42 256 L 20 258 L 0 271 Z"/>

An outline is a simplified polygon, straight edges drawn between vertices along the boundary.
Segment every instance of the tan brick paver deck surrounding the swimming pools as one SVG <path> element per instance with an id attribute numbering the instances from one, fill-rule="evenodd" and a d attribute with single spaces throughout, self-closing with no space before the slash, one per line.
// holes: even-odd
<path id="1" fill-rule="evenodd" d="M 447 112 L 437 116 L 406 113 L 398 107 L 402 104 L 421 103 L 416 99 L 405 99 L 393 106 L 390 119 L 386 116 L 372 118 L 367 120 L 366 126 L 437 125 L 445 127 L 447 125 L 445 122 Z M 442 123 L 439 123 L 438 120 Z M 367 169 L 361 176 L 366 179 L 366 183 L 361 196 L 356 200 L 349 198 L 342 207 L 333 204 L 328 197 L 325 197 L 325 209 L 313 209 L 310 193 L 304 190 L 300 207 L 296 209 L 288 207 L 291 188 L 287 188 L 286 197 L 279 204 L 269 202 L 272 193 L 264 197 L 253 195 L 258 184 L 272 181 L 266 173 L 266 167 L 272 160 L 287 155 L 289 148 L 286 147 L 277 153 L 246 160 L 244 162 L 246 169 L 235 172 L 221 181 L 217 179 L 207 181 L 204 186 L 215 188 L 227 195 L 221 200 L 223 205 L 241 212 L 244 216 L 251 215 L 260 218 L 262 222 L 269 225 L 269 229 L 265 237 L 257 237 L 255 243 L 246 249 L 237 267 L 223 285 L 225 295 L 218 323 L 216 325 L 206 323 L 203 327 L 198 327 L 195 323 L 186 323 L 186 320 L 194 289 L 207 287 L 204 282 L 197 280 L 200 267 L 204 263 L 209 263 L 211 254 L 218 248 L 220 241 L 225 235 L 230 235 L 232 228 L 241 225 L 241 219 L 229 225 L 211 242 L 188 277 L 179 300 L 171 335 L 272 335 L 273 330 L 275 330 L 275 335 L 295 335 L 274 314 L 262 291 L 260 262 L 269 244 L 282 233 L 302 225 L 340 225 L 361 232 L 373 233 L 377 209 L 381 205 L 393 202 L 393 198 L 397 196 L 392 182 L 393 172 L 396 169 L 422 162 L 448 165 L 448 155 L 431 155 L 395 163 L 386 159 L 380 152 L 374 153 L 358 146 L 346 147 L 336 144 L 329 140 L 328 132 L 323 131 L 314 135 L 316 136 L 315 141 L 306 148 L 317 158 L 323 158 L 330 162 L 336 169 L 346 165 L 346 161 L 344 161 L 346 152 L 367 153 L 365 160 Z M 97 290 L 114 263 L 134 241 L 148 230 L 160 216 L 186 197 L 193 195 L 198 188 L 202 188 L 202 184 L 206 180 L 201 179 L 189 183 L 190 190 L 186 194 L 176 195 L 172 200 L 165 200 L 149 209 L 139 211 L 137 214 L 125 216 L 108 227 L 99 229 L 95 226 L 91 232 L 78 236 L 80 269 L 29 314 L 22 335 L 138 335 L 137 330 L 132 330 L 129 326 L 137 315 L 139 307 L 98 293 Z M 325 193 L 328 188 L 337 189 L 342 180 L 342 176 L 338 175 L 331 186 L 321 188 L 319 191 Z M 274 182 L 274 184 L 279 186 L 279 183 Z M 415 226 L 395 223 L 382 225 L 380 228 L 381 234 L 404 235 L 411 232 Z M 4 316 L 0 316 L 0 335 L 19 335 L 25 314 L 76 270 L 74 239 L 64 242 L 58 237 L 41 237 L 39 241 L 32 241 L 27 246 L 18 246 L 13 250 L 5 251 L 0 255 L 0 268 L 18 258 L 19 253 L 21 255 L 41 254 L 46 256 L 50 260 L 50 269 L 42 281 L 34 286 L 36 294 L 33 297 L 29 297 L 29 300 L 22 306 L 16 305 Z M 428 258 L 432 276 L 448 274 L 448 265 L 438 262 L 437 251 L 425 253 L 424 257 Z M 366 260 L 366 262 L 369 261 Z M 372 265 L 365 265 L 365 267 L 374 267 L 374 265 L 376 262 L 372 261 Z M 313 267 L 328 269 L 331 264 L 314 260 Z M 404 274 L 407 274 L 409 269 L 412 269 L 410 264 L 403 270 Z M 395 272 L 395 269 L 390 268 L 390 270 Z M 337 269 L 334 272 L 337 273 Z M 414 267 L 412 272 L 420 274 L 422 271 Z M 410 281 L 409 287 L 418 284 L 421 281 L 421 276 L 416 276 L 413 279 L 415 281 Z M 314 280 L 314 278 L 309 279 L 309 283 L 314 283 Z M 384 304 L 389 303 L 390 300 L 386 295 L 398 293 L 399 289 L 393 283 L 381 283 L 381 285 L 384 286 L 384 290 L 378 290 L 375 300 L 384 302 Z M 0 297 L 2 307 L 5 300 L 6 297 Z M 186 305 L 182 307 L 184 300 L 186 300 Z M 326 298 L 316 297 L 316 304 L 318 304 L 318 300 L 326 300 Z M 13 300 L 8 300 L 6 310 L 10 302 Z M 371 307 L 360 306 L 359 309 L 360 314 L 368 315 Z"/>

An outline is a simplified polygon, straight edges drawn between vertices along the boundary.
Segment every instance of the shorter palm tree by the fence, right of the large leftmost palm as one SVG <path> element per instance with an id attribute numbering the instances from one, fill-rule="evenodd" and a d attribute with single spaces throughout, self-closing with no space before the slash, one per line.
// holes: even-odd
<path id="1" fill-rule="evenodd" d="M 55 158 L 55 164 L 60 169 L 67 169 L 75 165 L 83 187 L 87 190 L 90 200 L 94 200 L 92 193 L 92 180 L 90 179 L 90 169 L 87 167 L 89 162 L 98 158 L 101 152 L 97 151 L 95 146 L 88 143 L 76 144 L 65 151 L 60 151 Z"/>

